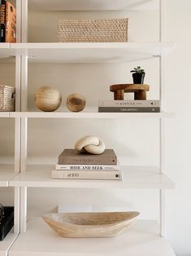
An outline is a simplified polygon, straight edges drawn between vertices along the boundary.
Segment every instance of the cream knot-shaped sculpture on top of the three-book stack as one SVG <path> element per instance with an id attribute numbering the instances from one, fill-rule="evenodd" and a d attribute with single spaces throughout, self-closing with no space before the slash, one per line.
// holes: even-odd
<path id="1" fill-rule="evenodd" d="M 94 136 L 85 136 L 78 139 L 74 148 L 79 152 L 89 152 L 93 155 L 99 155 L 104 152 L 106 146 L 102 139 Z"/>

